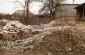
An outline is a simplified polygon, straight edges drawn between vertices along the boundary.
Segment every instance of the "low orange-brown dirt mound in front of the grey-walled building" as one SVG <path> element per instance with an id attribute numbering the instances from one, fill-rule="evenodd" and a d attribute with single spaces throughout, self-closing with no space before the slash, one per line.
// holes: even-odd
<path id="1" fill-rule="evenodd" d="M 55 20 L 52 20 L 51 22 L 44 24 L 44 27 L 55 27 L 55 26 L 62 26 L 62 25 L 69 25 L 69 26 L 75 26 L 76 21 L 72 17 L 68 18 L 57 18 Z"/>

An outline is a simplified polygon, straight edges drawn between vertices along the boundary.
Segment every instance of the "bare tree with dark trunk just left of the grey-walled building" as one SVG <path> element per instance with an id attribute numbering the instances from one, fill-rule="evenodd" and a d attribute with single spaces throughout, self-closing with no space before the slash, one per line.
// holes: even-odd
<path id="1" fill-rule="evenodd" d="M 51 19 L 55 19 L 55 9 L 63 1 L 66 1 L 66 0 L 49 0 L 49 9 L 51 13 Z"/>

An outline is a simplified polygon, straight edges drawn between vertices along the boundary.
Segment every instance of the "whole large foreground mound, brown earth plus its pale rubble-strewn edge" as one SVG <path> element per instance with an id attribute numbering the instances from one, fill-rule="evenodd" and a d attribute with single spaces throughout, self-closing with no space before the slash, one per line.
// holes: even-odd
<path id="1" fill-rule="evenodd" d="M 52 27 L 28 39 L 8 42 L 4 48 L 15 55 L 85 55 L 84 33 L 82 27 Z"/>

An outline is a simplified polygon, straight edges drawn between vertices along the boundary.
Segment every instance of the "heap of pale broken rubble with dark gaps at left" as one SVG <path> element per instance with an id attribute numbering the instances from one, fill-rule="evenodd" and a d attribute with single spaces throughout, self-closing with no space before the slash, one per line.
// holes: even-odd
<path id="1" fill-rule="evenodd" d="M 26 38 L 32 35 L 32 26 L 23 25 L 19 21 L 9 21 L 0 30 L 3 38 L 6 40 L 16 40 Z"/>

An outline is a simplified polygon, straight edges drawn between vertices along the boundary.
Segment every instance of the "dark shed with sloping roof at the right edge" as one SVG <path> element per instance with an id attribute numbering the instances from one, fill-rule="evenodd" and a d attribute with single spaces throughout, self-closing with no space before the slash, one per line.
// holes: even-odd
<path id="1" fill-rule="evenodd" d="M 75 7 L 77 20 L 85 20 L 85 3 Z"/>

